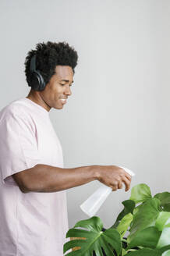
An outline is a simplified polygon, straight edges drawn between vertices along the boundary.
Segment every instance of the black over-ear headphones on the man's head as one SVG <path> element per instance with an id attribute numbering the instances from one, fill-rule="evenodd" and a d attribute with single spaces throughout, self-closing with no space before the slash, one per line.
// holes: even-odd
<path id="1" fill-rule="evenodd" d="M 43 91 L 45 87 L 44 78 L 39 70 L 36 70 L 36 55 L 30 59 L 30 87 L 34 91 Z"/>

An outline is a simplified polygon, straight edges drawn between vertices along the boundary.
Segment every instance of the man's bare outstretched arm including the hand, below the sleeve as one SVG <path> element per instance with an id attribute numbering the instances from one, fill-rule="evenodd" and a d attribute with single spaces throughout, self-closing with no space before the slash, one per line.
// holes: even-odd
<path id="1" fill-rule="evenodd" d="M 51 165 L 35 165 L 33 168 L 13 174 L 13 179 L 23 193 L 56 192 L 77 187 L 93 180 L 112 187 L 129 190 L 131 176 L 115 165 L 90 165 L 73 169 L 62 169 Z"/>

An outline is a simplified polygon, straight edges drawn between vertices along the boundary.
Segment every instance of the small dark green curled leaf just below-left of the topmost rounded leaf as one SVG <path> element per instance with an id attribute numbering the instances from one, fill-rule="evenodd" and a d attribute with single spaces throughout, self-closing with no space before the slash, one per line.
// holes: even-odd
<path id="1" fill-rule="evenodd" d="M 122 204 L 124 205 L 124 209 L 122 210 L 122 212 L 119 213 L 118 218 L 116 219 L 114 225 L 112 226 L 113 229 L 117 228 L 117 226 L 119 226 L 119 222 L 121 221 L 121 219 L 131 213 L 133 215 L 133 210 L 135 208 L 135 202 L 132 200 L 126 200 L 126 201 L 122 201 Z"/>

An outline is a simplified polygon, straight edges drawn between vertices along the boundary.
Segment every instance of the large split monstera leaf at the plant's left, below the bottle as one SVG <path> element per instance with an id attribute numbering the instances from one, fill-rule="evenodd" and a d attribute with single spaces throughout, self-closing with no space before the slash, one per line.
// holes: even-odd
<path id="1" fill-rule="evenodd" d="M 66 237 L 84 237 L 85 240 L 71 240 L 64 244 L 64 253 L 73 247 L 80 247 L 66 255 L 89 256 L 95 251 L 97 256 L 102 255 L 101 247 L 107 256 L 113 256 L 113 250 L 119 255 L 122 251 L 120 234 L 116 229 L 107 229 L 102 232 L 103 224 L 98 217 L 77 222 L 74 229 L 69 229 Z M 83 229 L 80 229 L 83 228 Z"/>

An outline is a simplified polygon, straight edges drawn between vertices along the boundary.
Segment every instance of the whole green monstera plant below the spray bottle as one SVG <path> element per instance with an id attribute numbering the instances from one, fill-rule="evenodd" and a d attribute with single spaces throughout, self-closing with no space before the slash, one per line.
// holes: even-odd
<path id="1" fill-rule="evenodd" d="M 66 256 L 170 256 L 170 193 L 152 197 L 146 184 L 131 190 L 113 226 L 94 216 L 69 229 Z M 72 250 L 70 250 L 72 249 Z"/>

